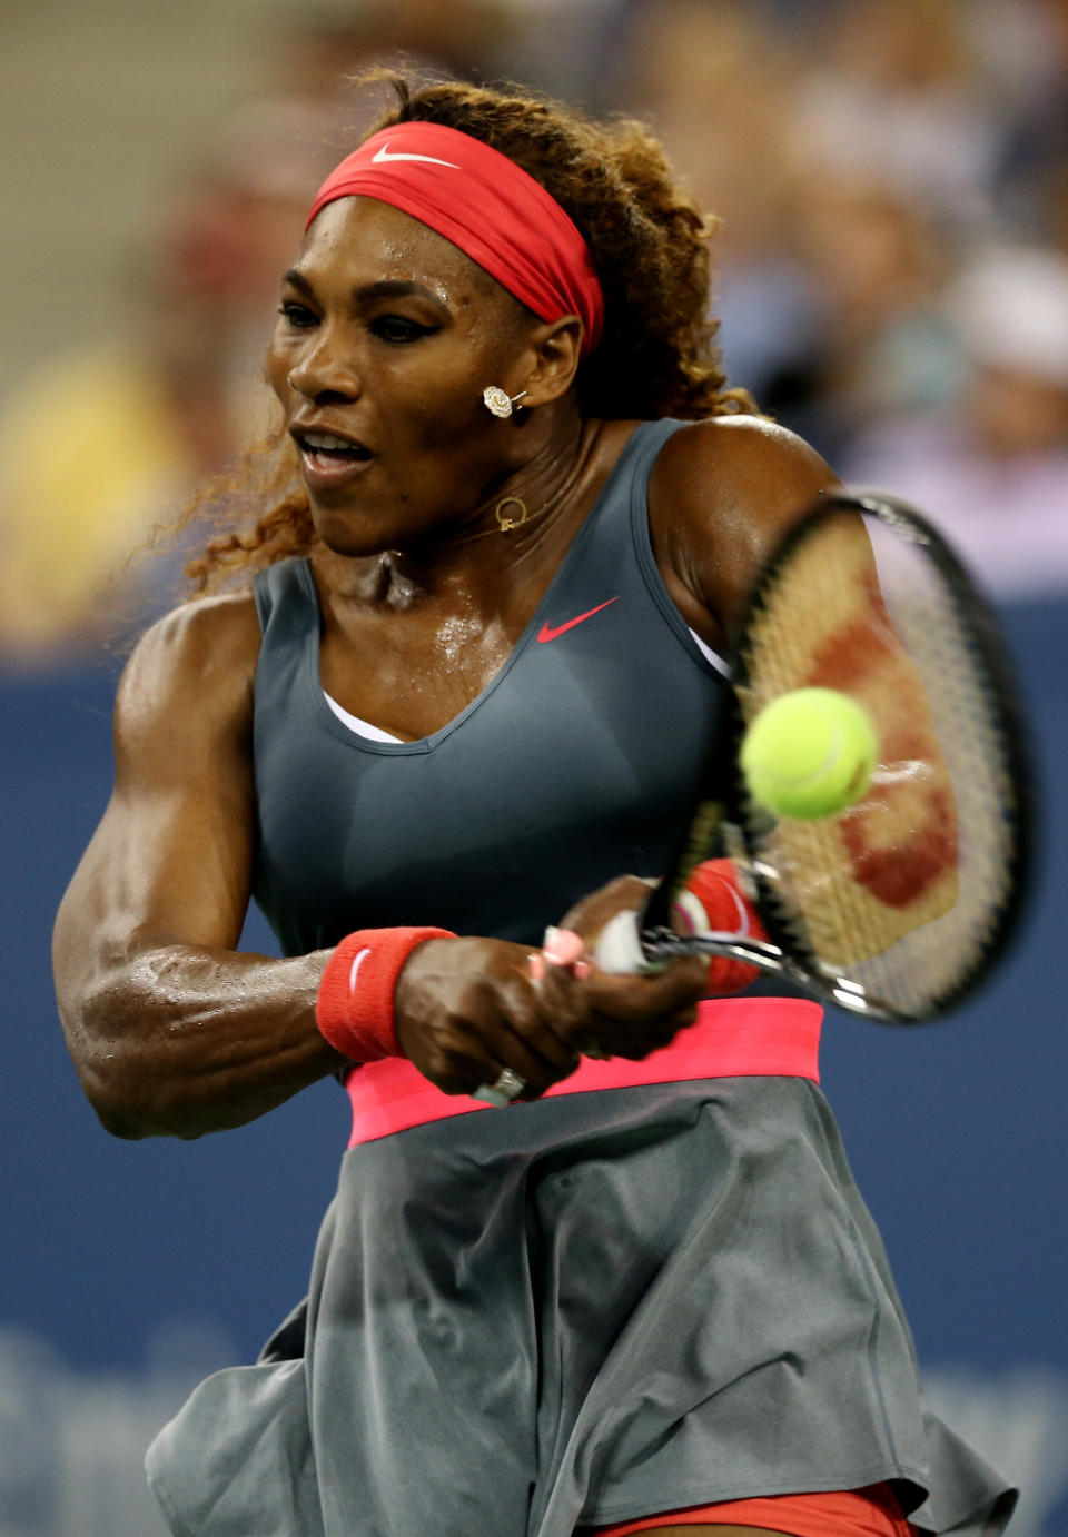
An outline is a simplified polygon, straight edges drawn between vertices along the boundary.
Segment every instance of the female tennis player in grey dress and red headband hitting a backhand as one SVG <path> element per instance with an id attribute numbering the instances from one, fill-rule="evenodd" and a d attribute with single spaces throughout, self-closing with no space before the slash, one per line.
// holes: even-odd
<path id="1" fill-rule="evenodd" d="M 117 1136 L 352 1100 L 307 1300 L 151 1448 L 178 1537 L 1005 1526 L 920 1408 L 819 1007 L 589 956 L 834 484 L 725 389 L 705 235 L 641 126 L 452 83 L 313 201 L 275 492 L 131 659 L 55 934 Z M 235 953 L 250 895 L 284 959 Z M 696 899 L 744 925 L 727 861 Z"/>

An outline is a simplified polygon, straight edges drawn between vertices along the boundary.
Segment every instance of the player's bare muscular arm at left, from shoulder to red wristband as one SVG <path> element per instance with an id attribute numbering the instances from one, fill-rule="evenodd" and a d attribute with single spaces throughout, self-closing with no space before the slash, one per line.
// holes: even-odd
<path id="1" fill-rule="evenodd" d="M 315 1025 L 329 959 L 238 954 L 254 851 L 250 596 L 191 604 L 138 644 L 115 788 L 55 922 L 60 1017 L 120 1137 L 243 1125 L 343 1059 Z"/>

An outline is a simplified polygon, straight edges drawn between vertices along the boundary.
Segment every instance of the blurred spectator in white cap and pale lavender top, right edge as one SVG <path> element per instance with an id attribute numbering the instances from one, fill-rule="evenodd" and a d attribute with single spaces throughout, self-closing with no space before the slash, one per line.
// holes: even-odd
<path id="1" fill-rule="evenodd" d="M 1068 593 L 1068 258 L 991 252 L 951 314 L 970 364 L 959 407 L 874 427 L 841 469 L 925 509 L 996 595 Z"/>

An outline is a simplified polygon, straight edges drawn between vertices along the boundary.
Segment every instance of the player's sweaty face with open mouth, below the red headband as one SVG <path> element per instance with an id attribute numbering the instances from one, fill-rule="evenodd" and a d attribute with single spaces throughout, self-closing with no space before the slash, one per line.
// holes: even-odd
<path id="1" fill-rule="evenodd" d="M 323 209 L 283 280 L 267 375 L 330 549 L 404 549 L 492 495 L 516 450 L 483 390 L 521 389 L 535 326 L 407 214 L 364 197 Z"/>

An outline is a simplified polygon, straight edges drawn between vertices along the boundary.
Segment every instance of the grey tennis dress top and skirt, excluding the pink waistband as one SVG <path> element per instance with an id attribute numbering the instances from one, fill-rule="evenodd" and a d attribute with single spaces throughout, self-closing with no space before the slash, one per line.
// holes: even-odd
<path id="1" fill-rule="evenodd" d="M 309 567 L 257 578 L 257 899 L 286 953 L 436 924 L 538 944 L 678 833 L 722 681 L 670 603 L 642 424 L 493 682 L 418 742 L 329 709 Z M 357 1070 L 358 1071 L 358 1070 Z M 896 1480 L 1011 1489 L 919 1403 L 885 1254 L 804 1077 L 562 1094 L 352 1147 L 306 1303 L 152 1443 L 177 1537 L 572 1537 Z"/>

